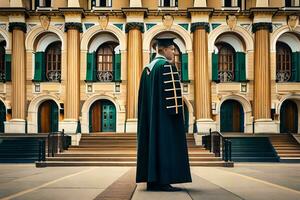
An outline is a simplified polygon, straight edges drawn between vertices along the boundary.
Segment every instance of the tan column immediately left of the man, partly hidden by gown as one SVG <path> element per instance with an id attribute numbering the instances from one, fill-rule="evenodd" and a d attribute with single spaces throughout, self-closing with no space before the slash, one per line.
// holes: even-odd
<path id="1" fill-rule="evenodd" d="M 137 105 L 139 81 L 142 71 L 143 32 L 143 23 L 130 22 L 126 24 L 126 33 L 128 33 L 126 132 L 137 131 Z"/>

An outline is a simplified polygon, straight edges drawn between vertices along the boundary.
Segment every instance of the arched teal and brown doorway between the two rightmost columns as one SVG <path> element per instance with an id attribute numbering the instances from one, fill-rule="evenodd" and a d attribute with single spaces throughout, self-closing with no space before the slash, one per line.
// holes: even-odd
<path id="1" fill-rule="evenodd" d="M 243 106 L 236 100 L 221 105 L 221 132 L 244 132 Z"/>

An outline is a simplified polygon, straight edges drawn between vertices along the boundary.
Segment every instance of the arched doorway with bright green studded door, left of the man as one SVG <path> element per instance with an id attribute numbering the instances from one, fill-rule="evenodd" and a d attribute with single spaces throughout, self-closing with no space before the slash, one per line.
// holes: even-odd
<path id="1" fill-rule="evenodd" d="M 89 132 L 115 132 L 116 107 L 108 100 L 95 101 L 89 111 Z"/>

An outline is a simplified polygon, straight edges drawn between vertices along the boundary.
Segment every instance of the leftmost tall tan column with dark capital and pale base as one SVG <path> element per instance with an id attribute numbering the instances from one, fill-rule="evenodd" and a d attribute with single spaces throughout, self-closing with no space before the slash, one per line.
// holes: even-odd
<path id="1" fill-rule="evenodd" d="M 25 133 L 26 123 L 26 65 L 24 22 L 9 23 L 12 33 L 12 119 L 5 123 L 6 133 Z"/>

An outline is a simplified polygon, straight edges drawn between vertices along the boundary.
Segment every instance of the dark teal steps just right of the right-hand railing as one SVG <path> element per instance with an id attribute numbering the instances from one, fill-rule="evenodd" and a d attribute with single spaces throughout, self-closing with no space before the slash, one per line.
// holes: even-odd
<path id="1" fill-rule="evenodd" d="M 232 160 L 236 162 L 278 162 L 268 137 L 230 137 Z"/>

